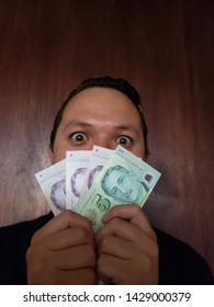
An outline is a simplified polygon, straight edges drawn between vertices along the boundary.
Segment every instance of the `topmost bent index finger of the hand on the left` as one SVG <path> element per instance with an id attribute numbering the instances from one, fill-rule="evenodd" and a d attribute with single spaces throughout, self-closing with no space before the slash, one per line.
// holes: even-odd
<path id="1" fill-rule="evenodd" d="M 46 237 L 63 229 L 71 228 L 75 226 L 83 227 L 88 229 L 88 231 L 93 234 L 91 224 L 86 217 L 71 211 L 64 211 L 35 232 L 35 235 L 33 236 L 33 242 L 36 242 L 42 237 Z"/>

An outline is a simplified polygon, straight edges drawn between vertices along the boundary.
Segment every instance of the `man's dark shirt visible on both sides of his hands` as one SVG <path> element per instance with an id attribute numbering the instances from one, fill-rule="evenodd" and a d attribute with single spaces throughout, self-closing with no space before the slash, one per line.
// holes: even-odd
<path id="1" fill-rule="evenodd" d="M 0 228 L 0 284 L 24 285 L 26 251 L 34 232 L 43 227 L 53 213 L 30 221 Z M 159 246 L 159 284 L 213 284 L 210 266 L 190 246 L 155 229 Z"/>

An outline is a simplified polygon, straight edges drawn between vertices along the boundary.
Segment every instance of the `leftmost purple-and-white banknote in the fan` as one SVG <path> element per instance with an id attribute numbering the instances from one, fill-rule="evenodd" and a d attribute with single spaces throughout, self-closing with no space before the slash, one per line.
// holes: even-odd
<path id="1" fill-rule="evenodd" d="M 54 215 L 66 209 L 66 159 L 35 173 Z"/>

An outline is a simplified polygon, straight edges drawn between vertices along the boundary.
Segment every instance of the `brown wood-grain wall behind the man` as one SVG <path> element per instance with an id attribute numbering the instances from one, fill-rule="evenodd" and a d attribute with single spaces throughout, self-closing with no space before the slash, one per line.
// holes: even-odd
<path id="1" fill-rule="evenodd" d="M 0 0 L 0 225 L 48 211 L 34 173 L 56 111 L 103 75 L 144 101 L 162 172 L 147 215 L 214 271 L 214 1 Z"/>

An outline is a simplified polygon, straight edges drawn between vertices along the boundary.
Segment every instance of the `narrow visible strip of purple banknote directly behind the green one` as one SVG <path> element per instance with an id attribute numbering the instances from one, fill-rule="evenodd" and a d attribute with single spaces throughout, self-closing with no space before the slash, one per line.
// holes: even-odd
<path id="1" fill-rule="evenodd" d="M 78 205 L 83 198 L 85 194 L 89 191 L 89 189 L 94 183 L 95 179 L 98 178 L 99 173 L 106 164 L 108 160 L 110 159 L 113 150 L 100 147 L 94 145 L 92 148 L 92 152 L 89 159 L 88 169 L 85 174 L 83 184 L 80 192 L 80 198 L 78 201 Z"/>

